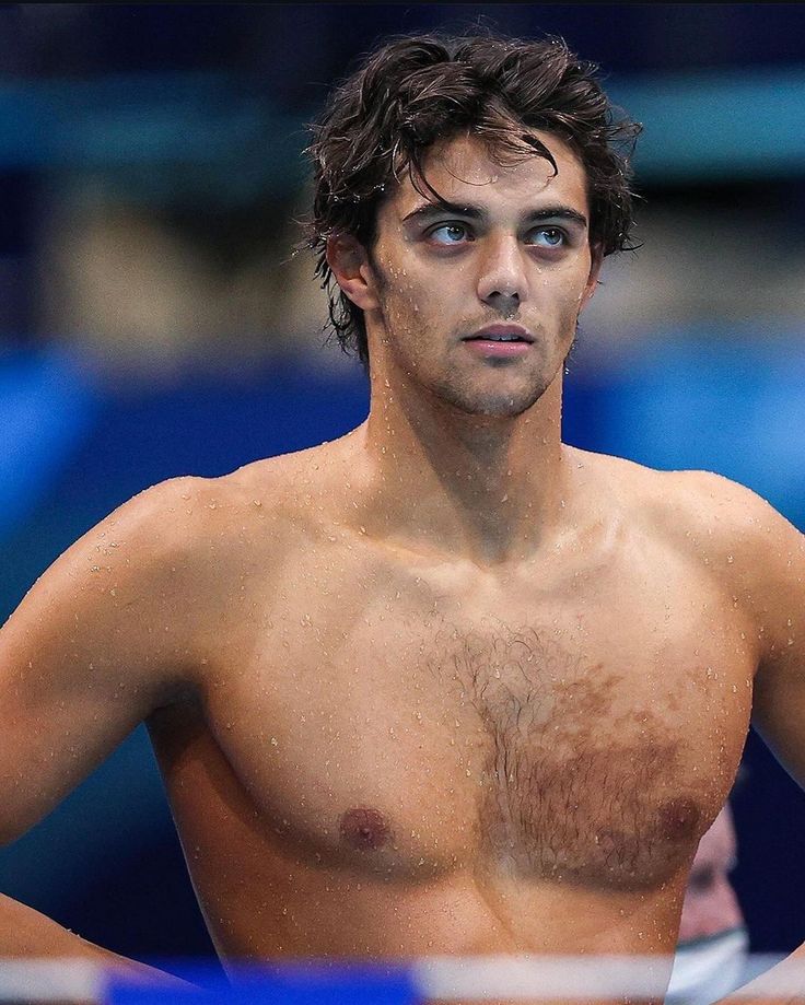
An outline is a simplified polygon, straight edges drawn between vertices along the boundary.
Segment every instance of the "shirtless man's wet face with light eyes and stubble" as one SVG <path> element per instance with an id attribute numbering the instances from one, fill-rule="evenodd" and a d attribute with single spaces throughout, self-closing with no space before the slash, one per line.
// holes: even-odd
<path id="1" fill-rule="evenodd" d="M 556 174 L 536 154 L 498 163 L 475 138 L 433 148 L 425 177 L 451 208 L 405 177 L 378 210 L 371 254 L 346 282 L 341 269 L 364 311 L 372 373 L 390 386 L 402 379 L 464 412 L 513 417 L 560 374 L 598 262 L 584 168 L 563 141 L 535 135 Z"/>

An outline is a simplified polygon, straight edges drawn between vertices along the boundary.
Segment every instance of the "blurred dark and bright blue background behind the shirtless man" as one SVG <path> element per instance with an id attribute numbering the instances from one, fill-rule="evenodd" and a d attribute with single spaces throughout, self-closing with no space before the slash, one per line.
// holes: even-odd
<path id="1" fill-rule="evenodd" d="M 0 613 L 140 490 L 363 420 L 323 334 L 305 125 L 378 36 L 561 34 L 644 124 L 639 252 L 607 264 L 567 439 L 735 478 L 805 528 L 805 7 L 0 8 Z M 732 799 L 755 951 L 805 939 L 805 797 L 749 738 Z M 208 955 L 144 733 L 0 889 L 140 959 Z"/>

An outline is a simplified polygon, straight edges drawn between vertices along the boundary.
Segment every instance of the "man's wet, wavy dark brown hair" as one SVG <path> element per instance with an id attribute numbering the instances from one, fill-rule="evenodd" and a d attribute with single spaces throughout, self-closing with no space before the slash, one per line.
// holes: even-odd
<path id="1" fill-rule="evenodd" d="M 558 37 L 417 35 L 386 42 L 334 91 L 311 127 L 314 199 L 305 243 L 345 351 L 357 350 L 369 366 L 363 312 L 335 281 L 327 238 L 350 234 L 371 252 L 378 206 L 405 173 L 440 201 L 422 170 L 436 141 L 469 132 L 498 159 L 536 153 L 556 171 L 529 130 L 559 136 L 586 171 L 591 244 L 602 256 L 632 247 L 629 156 L 641 127 L 616 118 L 597 71 Z"/>

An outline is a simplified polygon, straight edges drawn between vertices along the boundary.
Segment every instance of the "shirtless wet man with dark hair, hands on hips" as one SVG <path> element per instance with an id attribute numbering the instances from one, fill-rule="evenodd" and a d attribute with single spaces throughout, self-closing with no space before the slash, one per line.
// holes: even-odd
<path id="1" fill-rule="evenodd" d="M 673 953 L 752 709 L 805 778 L 805 549 L 723 478 L 561 443 L 631 224 L 591 74 L 420 38 L 335 94 L 312 243 L 369 419 L 43 575 L 1 633 L 5 840 L 144 721 L 225 960 Z M 104 958 L 2 912 L 3 954 Z"/>

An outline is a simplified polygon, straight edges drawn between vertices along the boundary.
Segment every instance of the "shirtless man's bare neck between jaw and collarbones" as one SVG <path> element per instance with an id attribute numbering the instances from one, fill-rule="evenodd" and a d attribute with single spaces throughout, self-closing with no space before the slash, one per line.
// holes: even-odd
<path id="1" fill-rule="evenodd" d="M 513 419 L 373 388 L 353 443 L 354 519 L 397 547 L 491 566 L 526 560 L 562 521 L 561 376 Z"/>

